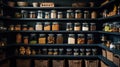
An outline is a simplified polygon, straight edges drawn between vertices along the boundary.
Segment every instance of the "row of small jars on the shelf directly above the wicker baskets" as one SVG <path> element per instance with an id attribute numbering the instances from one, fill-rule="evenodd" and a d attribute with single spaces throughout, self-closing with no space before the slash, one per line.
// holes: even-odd
<path id="1" fill-rule="evenodd" d="M 42 48 L 31 49 L 30 47 L 20 47 L 15 51 L 16 55 L 97 55 L 96 48 Z"/>

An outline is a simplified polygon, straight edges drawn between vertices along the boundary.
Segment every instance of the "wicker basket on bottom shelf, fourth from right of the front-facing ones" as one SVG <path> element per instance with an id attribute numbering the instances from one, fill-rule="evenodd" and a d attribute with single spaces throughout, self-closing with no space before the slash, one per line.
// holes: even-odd
<path id="1" fill-rule="evenodd" d="M 34 60 L 35 67 L 49 67 L 49 60 Z"/>

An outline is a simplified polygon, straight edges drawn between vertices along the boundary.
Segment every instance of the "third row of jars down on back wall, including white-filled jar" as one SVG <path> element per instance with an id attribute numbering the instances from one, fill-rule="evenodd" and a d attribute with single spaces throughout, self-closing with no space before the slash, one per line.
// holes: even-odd
<path id="1" fill-rule="evenodd" d="M 93 34 L 87 34 L 87 38 L 84 34 L 68 34 L 68 39 L 64 40 L 63 34 L 30 34 L 30 36 L 22 36 L 20 33 L 16 35 L 16 43 L 20 44 L 93 44 Z M 86 42 L 87 41 L 87 42 Z"/>

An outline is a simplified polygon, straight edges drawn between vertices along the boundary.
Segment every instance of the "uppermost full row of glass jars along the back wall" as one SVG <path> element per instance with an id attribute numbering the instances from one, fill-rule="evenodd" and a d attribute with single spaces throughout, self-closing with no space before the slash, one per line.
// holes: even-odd
<path id="1" fill-rule="evenodd" d="M 65 15 L 65 16 L 64 16 Z M 66 10 L 66 11 L 57 11 L 57 10 L 51 10 L 51 11 L 27 11 L 27 10 L 21 10 L 21 12 L 15 13 L 16 18 L 97 18 L 96 11 L 82 11 L 82 10 Z"/>

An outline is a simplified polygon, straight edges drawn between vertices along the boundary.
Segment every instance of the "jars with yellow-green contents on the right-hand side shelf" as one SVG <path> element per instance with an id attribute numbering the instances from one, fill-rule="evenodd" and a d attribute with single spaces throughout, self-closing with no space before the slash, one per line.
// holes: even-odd
<path id="1" fill-rule="evenodd" d="M 103 27 L 106 32 L 120 32 L 120 22 L 104 23 Z"/>

